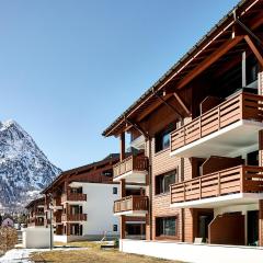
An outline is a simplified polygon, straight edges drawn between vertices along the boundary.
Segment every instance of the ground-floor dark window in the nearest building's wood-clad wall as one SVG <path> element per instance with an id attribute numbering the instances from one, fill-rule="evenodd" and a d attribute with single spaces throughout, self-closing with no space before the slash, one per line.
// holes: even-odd
<path id="1" fill-rule="evenodd" d="M 174 237 L 178 232 L 176 217 L 159 217 L 156 218 L 156 236 L 157 237 Z"/>

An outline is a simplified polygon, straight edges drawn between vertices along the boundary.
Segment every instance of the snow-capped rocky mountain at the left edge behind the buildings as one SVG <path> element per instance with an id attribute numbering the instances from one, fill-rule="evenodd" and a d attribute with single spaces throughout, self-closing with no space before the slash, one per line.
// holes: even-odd
<path id="1" fill-rule="evenodd" d="M 22 209 L 60 172 L 18 123 L 0 122 L 0 210 Z"/>

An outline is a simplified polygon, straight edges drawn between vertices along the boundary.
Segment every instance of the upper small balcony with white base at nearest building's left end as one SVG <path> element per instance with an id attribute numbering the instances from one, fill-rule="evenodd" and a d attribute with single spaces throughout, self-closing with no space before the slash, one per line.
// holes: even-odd
<path id="1" fill-rule="evenodd" d="M 148 173 L 148 158 L 130 156 L 113 167 L 113 181 L 125 179 L 127 183 L 145 183 Z"/>

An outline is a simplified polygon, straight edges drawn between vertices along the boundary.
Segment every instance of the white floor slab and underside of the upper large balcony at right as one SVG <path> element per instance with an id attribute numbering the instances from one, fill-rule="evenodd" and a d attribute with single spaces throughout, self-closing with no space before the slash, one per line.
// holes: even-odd
<path id="1" fill-rule="evenodd" d="M 259 144 L 259 130 L 263 123 L 241 119 L 218 132 L 197 139 L 170 153 L 178 157 L 231 156 L 240 148 L 252 147 Z"/>

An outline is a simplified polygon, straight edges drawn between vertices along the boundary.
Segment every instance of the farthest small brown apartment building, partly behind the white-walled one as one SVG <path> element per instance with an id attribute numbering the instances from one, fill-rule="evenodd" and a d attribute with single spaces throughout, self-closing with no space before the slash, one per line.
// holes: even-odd
<path id="1" fill-rule="evenodd" d="M 27 209 L 27 227 L 44 227 L 45 222 L 45 198 L 32 201 L 25 206 Z"/>

